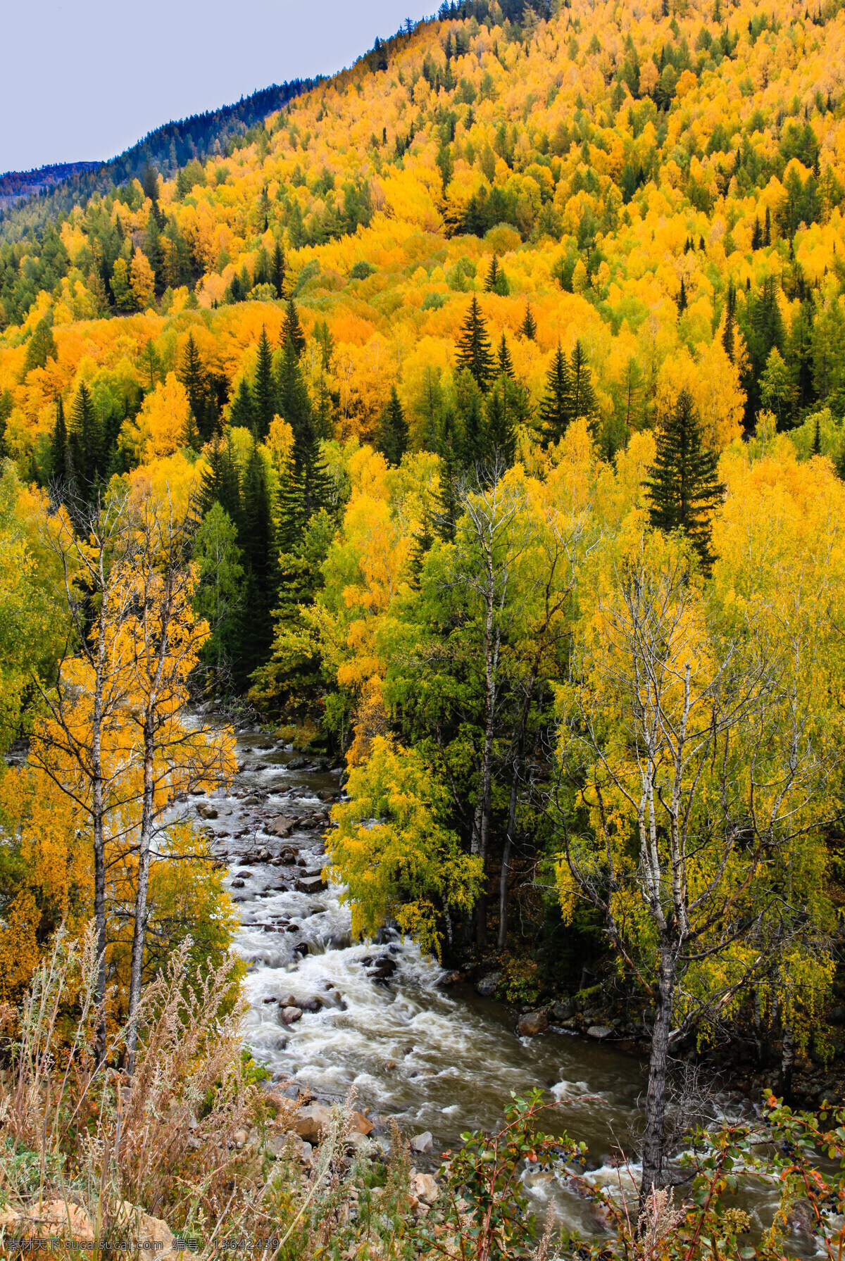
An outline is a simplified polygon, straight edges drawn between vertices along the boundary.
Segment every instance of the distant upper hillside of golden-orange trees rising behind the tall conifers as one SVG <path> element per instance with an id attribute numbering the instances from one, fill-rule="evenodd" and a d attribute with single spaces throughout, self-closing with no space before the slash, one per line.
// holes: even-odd
<path id="1" fill-rule="evenodd" d="M 829 406 L 834 425 L 845 11 L 542 9 L 513 5 L 517 24 L 497 0 L 443 6 L 228 156 L 146 193 L 130 179 L 40 243 L 4 247 L 10 454 L 38 451 L 81 375 L 111 382 L 117 424 L 145 388 L 143 349 L 166 372 L 188 327 L 226 409 L 261 327 L 279 335 L 283 250 L 338 438 L 371 435 L 396 385 L 425 440 L 431 373 L 445 397 L 470 290 L 535 414 L 555 347 L 580 338 L 608 451 L 682 385 L 716 446 L 763 404 L 784 426 Z M 484 293 L 494 253 L 504 279 Z M 536 338 L 518 335 L 528 301 Z"/>

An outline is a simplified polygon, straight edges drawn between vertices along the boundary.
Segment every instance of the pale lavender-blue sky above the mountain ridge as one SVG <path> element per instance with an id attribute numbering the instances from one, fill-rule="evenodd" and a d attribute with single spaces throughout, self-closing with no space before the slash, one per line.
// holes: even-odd
<path id="1" fill-rule="evenodd" d="M 114 158 L 163 122 L 330 74 L 438 0 L 0 0 L 0 171 Z"/>

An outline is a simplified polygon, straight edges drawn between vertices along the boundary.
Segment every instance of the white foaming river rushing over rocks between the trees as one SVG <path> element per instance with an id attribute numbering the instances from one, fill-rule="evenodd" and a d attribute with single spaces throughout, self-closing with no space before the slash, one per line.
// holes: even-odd
<path id="1" fill-rule="evenodd" d="M 541 1087 L 549 1102 L 562 1105 L 546 1113 L 545 1129 L 585 1140 L 588 1177 L 618 1185 L 609 1158 L 619 1146 L 631 1150 L 642 1066 L 562 1031 L 517 1037 L 512 1011 L 470 986 L 441 989 L 441 968 L 411 943 L 352 943 L 341 889 L 296 889 L 298 879 L 323 865 L 338 773 L 290 769 L 293 750 L 260 734 L 241 736 L 237 752 L 231 796 L 197 798 L 194 806 L 201 817 L 217 812 L 202 826 L 228 865 L 241 914 L 236 950 L 248 965 L 247 1039 L 274 1078 L 322 1101 L 354 1087 L 356 1107 L 370 1111 L 376 1135 L 387 1116 L 409 1137 L 431 1132 L 430 1166 L 462 1131 L 496 1127 L 511 1092 Z M 289 835 L 274 834 L 280 816 L 294 823 Z M 381 971 L 390 975 L 380 979 L 373 972 L 383 961 Z M 281 1018 L 286 1005 L 303 1009 L 291 1026 Z M 595 1229 L 594 1211 L 568 1174 L 537 1174 L 528 1189 L 539 1212 L 551 1199 L 561 1223 Z"/>

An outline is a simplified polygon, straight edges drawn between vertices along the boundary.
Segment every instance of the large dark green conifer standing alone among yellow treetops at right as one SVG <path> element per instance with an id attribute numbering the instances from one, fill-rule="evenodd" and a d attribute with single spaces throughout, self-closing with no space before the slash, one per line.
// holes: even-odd
<path id="1" fill-rule="evenodd" d="M 701 441 L 692 397 L 682 390 L 657 434 L 655 464 L 646 478 L 646 497 L 655 530 L 682 530 L 705 574 L 713 567 L 713 513 L 724 487 L 716 480 L 716 455 Z"/>

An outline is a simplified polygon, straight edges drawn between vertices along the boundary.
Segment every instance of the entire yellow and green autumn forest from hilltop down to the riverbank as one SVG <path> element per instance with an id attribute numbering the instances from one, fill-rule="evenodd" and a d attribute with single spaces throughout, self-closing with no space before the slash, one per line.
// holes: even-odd
<path id="1" fill-rule="evenodd" d="M 221 957 L 202 841 L 149 847 L 231 773 L 218 730 L 174 753 L 203 699 L 343 759 L 354 933 L 492 979 L 528 1031 L 570 995 L 568 1028 L 648 1045 L 643 1188 L 672 1055 L 825 1097 L 844 78 L 837 0 L 462 0 L 224 144 L 14 212 L 6 994 L 92 914 L 115 1019 L 168 952 Z"/>

